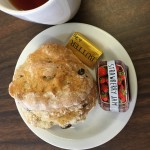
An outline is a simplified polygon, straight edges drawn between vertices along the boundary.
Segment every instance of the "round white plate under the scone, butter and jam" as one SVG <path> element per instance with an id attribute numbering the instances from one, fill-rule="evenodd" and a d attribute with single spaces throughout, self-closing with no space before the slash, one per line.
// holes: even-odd
<path id="1" fill-rule="evenodd" d="M 65 149 L 88 149 L 106 143 L 116 136 L 127 124 L 134 110 L 137 98 L 137 78 L 133 63 L 123 46 L 105 31 L 91 25 L 81 23 L 57 25 L 44 30 L 28 43 L 19 57 L 16 68 L 41 44 L 48 41 L 66 44 L 75 31 L 85 35 L 103 50 L 103 60 L 120 59 L 129 67 L 131 90 L 129 110 L 125 113 L 112 113 L 102 110 L 97 104 L 96 108 L 88 114 L 86 121 L 75 128 L 61 129 L 53 127 L 49 130 L 44 130 L 29 125 L 24 120 L 19 106 L 16 105 L 27 126 L 47 143 Z M 92 73 L 95 76 L 94 70 Z"/>

